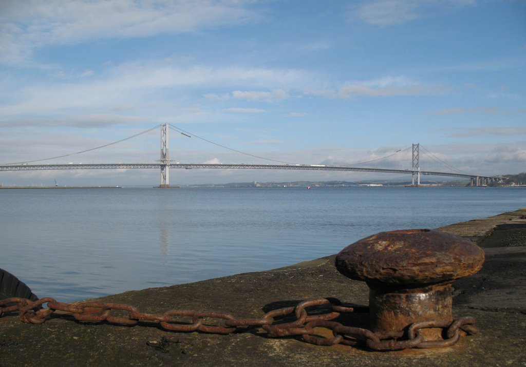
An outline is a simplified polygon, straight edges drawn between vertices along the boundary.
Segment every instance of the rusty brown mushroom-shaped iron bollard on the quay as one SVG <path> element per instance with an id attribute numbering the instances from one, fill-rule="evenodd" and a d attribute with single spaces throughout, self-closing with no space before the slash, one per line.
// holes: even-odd
<path id="1" fill-rule="evenodd" d="M 483 262 L 484 251 L 473 242 L 429 229 L 380 232 L 336 257 L 343 275 L 367 282 L 375 332 L 404 330 L 418 321 L 452 321 L 451 283 L 476 273 Z M 440 330 L 422 335 L 436 340 Z"/>

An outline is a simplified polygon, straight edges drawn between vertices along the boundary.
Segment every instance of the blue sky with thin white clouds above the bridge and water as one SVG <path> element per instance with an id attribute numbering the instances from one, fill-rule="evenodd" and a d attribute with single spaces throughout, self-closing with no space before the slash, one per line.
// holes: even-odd
<path id="1" fill-rule="evenodd" d="M 421 169 L 524 172 L 526 1 L 0 0 L 0 164 L 155 162 L 166 123 L 181 163 L 411 168 L 420 144 Z M 173 184 L 369 178 L 398 177 L 170 170 Z M 0 172 L 53 180 L 159 172 Z"/>

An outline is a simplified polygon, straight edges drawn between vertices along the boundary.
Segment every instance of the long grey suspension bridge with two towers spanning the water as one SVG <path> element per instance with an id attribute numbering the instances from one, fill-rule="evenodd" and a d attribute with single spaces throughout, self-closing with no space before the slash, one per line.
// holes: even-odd
<path id="1" fill-rule="evenodd" d="M 157 128 L 157 126 L 155 128 Z M 285 162 L 280 162 L 281 164 L 179 163 L 179 162 L 173 162 L 173 160 L 169 158 L 169 148 L 168 148 L 169 129 L 174 129 L 170 127 L 169 124 L 160 125 L 160 159 L 154 163 L 120 163 L 119 162 L 119 163 L 74 164 L 73 162 L 68 162 L 67 164 L 33 164 L 34 162 L 38 162 L 38 161 L 63 158 L 63 157 L 67 157 L 67 156 L 71 156 L 75 154 L 81 154 L 87 151 L 92 151 L 92 150 L 99 149 L 99 148 L 104 148 L 109 145 L 116 144 L 117 142 L 121 142 L 121 141 L 130 139 L 130 138 L 136 137 L 140 134 L 143 134 L 144 132 L 153 130 L 155 128 L 143 131 L 139 134 L 136 134 L 134 136 L 131 136 L 131 137 L 128 137 L 122 140 L 118 140 L 116 142 L 112 142 L 110 144 L 106 144 L 106 145 L 103 145 L 97 148 L 93 148 L 93 149 L 83 150 L 83 151 L 76 152 L 73 154 L 67 154 L 64 156 L 58 156 L 58 157 L 52 157 L 52 158 L 46 158 L 46 159 L 28 160 L 28 161 L 23 161 L 23 162 L 16 162 L 13 164 L 0 164 L 0 171 L 69 170 L 69 169 L 158 169 L 160 170 L 159 187 L 161 188 L 167 188 L 170 186 L 170 182 L 169 182 L 169 170 L 170 169 L 273 169 L 273 170 L 292 169 L 292 170 L 317 170 L 317 171 L 378 172 L 378 173 L 385 173 L 385 174 L 404 174 L 404 175 L 409 174 L 412 176 L 412 186 L 420 185 L 421 176 L 445 176 L 445 177 L 470 179 L 471 186 L 485 186 L 491 182 L 502 181 L 503 179 L 502 176 L 483 176 L 483 175 L 469 174 L 468 172 L 463 172 L 454 167 L 451 167 L 445 164 L 445 162 L 443 163 L 447 165 L 450 169 L 452 169 L 452 171 L 421 170 L 420 169 L 420 144 L 412 144 L 411 146 L 412 148 L 411 168 L 403 168 L 403 169 L 353 166 L 356 164 L 338 166 L 338 165 L 319 165 L 319 164 L 310 164 L 310 165 L 289 164 Z M 174 130 L 179 132 L 182 135 L 191 137 L 191 135 L 189 135 L 189 133 L 185 132 L 184 130 L 180 130 L 180 129 L 174 129 Z M 225 146 L 221 146 L 219 144 L 216 144 L 214 142 L 211 142 L 203 138 L 200 138 L 200 139 L 208 141 L 211 144 L 215 144 L 222 148 L 226 148 L 232 151 L 236 151 L 238 153 L 246 154 L 244 152 L 241 152 L 235 149 L 230 149 Z M 251 154 L 246 154 L 246 155 L 256 157 L 256 158 L 266 159 L 266 158 L 254 156 Z M 267 159 L 267 160 L 271 161 L 272 159 Z M 378 159 L 375 159 L 375 160 L 378 160 Z M 277 162 L 276 160 L 274 161 Z M 366 161 L 366 162 L 361 162 L 361 163 L 365 164 L 371 161 Z"/>

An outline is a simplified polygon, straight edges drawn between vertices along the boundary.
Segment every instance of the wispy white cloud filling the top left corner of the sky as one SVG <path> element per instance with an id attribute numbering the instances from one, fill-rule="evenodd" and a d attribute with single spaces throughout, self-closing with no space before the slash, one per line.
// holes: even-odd
<path id="1" fill-rule="evenodd" d="M 0 3 L 2 62 L 17 63 L 33 50 L 93 39 L 195 32 L 255 21 L 243 0 L 18 0 Z"/>

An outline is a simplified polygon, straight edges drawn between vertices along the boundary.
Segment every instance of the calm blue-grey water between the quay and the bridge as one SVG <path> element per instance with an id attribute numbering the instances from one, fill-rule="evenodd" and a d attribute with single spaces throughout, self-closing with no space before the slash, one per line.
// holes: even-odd
<path id="1" fill-rule="evenodd" d="M 0 268 L 75 301 L 287 266 L 526 207 L 521 188 L 0 190 Z"/>

